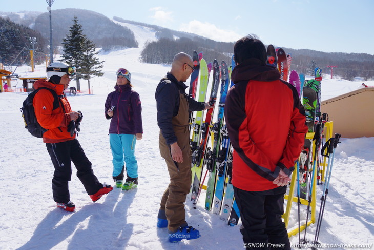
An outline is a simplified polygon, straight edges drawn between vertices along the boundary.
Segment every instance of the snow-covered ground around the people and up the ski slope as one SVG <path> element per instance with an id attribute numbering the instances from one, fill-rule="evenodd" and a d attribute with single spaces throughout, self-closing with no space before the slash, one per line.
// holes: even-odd
<path id="1" fill-rule="evenodd" d="M 144 44 L 154 33 L 132 26 Z M 93 203 L 80 184 L 73 167 L 70 182 L 75 213 L 56 208 L 52 199 L 53 166 L 44 143 L 32 137 L 24 127 L 19 112 L 26 93 L 0 93 L 0 125 L 3 130 L 0 150 L 0 249 L 244 249 L 239 226 L 230 227 L 203 208 L 205 193 L 197 209 L 186 202 L 186 220 L 200 230 L 201 238 L 169 243 L 167 229 L 157 228 L 160 198 L 169 183 L 169 175 L 158 149 L 159 129 L 156 123 L 154 92 L 159 80 L 170 70 L 168 65 L 143 64 L 141 48 L 100 54 L 105 60 L 102 78 L 91 80 L 93 95 L 87 95 L 87 82 L 81 81 L 83 93 L 69 96 L 73 110 L 84 114 L 78 140 L 93 164 L 101 182 L 113 185 L 112 156 L 109 148 L 109 121 L 103 110 L 107 94 L 113 91 L 115 71 L 120 67 L 132 73 L 134 90 L 140 94 L 144 134 L 137 141 L 139 186 L 130 191 L 114 189 Z M 192 52 L 192 51 L 186 51 Z M 22 76 L 45 76 L 45 65 L 36 73 L 23 66 Z M 189 82 L 189 81 L 188 81 Z M 356 90 L 362 82 L 323 79 L 322 100 Z M 13 82 L 12 82 L 13 84 Z M 366 82 L 373 86 L 374 82 Z M 18 80 L 17 86 L 20 86 Z M 70 86 L 75 86 L 72 81 Z M 339 132 L 339 131 L 337 131 Z M 344 135 L 343 135 L 344 136 Z M 352 249 L 374 243 L 374 138 L 342 139 L 335 152 L 333 177 L 326 202 L 319 242 L 324 249 Z M 317 209 L 322 186 L 317 190 Z M 294 204 L 289 228 L 297 226 L 297 204 Z M 302 206 L 302 217 L 306 217 Z M 307 229 L 313 240 L 316 225 Z M 303 237 L 302 233 L 302 237 Z M 292 244 L 298 237 L 290 238 Z M 335 245 L 334 245 L 335 244 Z M 354 247 L 356 245 L 356 247 Z M 294 247 L 297 249 L 297 247 Z"/>

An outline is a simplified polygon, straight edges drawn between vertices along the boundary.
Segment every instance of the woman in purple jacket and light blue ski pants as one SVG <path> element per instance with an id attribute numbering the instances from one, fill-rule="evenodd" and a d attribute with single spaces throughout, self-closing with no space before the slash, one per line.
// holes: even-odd
<path id="1" fill-rule="evenodd" d="M 115 91 L 108 94 L 105 116 L 112 119 L 109 141 L 113 155 L 113 179 L 117 188 L 129 190 L 138 184 L 138 163 L 135 158 L 135 142 L 142 139 L 141 101 L 131 89 L 131 73 L 124 68 L 117 70 Z M 136 140 L 135 140 L 136 139 Z M 123 183 L 124 163 L 126 182 Z"/>

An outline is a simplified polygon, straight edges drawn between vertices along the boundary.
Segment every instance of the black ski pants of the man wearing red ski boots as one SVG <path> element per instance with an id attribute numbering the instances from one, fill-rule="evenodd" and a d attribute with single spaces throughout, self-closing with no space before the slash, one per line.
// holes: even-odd
<path id="1" fill-rule="evenodd" d="M 92 164 L 88 160 L 77 139 L 59 142 L 46 143 L 47 150 L 51 156 L 54 166 L 52 179 L 53 200 L 58 203 L 70 201 L 69 181 L 71 180 L 71 162 L 77 169 L 77 177 L 84 185 L 87 194 L 93 195 L 102 188 L 92 170 Z"/>

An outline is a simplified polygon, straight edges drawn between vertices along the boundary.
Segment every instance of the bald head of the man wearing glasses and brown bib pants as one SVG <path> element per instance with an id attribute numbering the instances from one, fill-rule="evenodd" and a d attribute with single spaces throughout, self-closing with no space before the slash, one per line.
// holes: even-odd
<path id="1" fill-rule="evenodd" d="M 174 56 L 172 69 L 170 73 L 175 76 L 178 81 L 185 82 L 190 77 L 192 72 L 191 67 L 194 63 L 190 55 L 186 53 L 178 53 Z"/>

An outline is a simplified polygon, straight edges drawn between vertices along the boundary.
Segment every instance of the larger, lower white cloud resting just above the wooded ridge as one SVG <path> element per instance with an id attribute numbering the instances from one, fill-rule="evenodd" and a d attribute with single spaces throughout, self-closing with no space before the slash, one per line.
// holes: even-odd
<path id="1" fill-rule="evenodd" d="M 232 30 L 219 29 L 214 24 L 201 23 L 197 20 L 190 21 L 188 24 L 181 24 L 179 30 L 198 34 L 219 42 L 235 42 L 243 37 Z"/>

